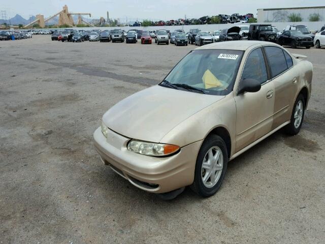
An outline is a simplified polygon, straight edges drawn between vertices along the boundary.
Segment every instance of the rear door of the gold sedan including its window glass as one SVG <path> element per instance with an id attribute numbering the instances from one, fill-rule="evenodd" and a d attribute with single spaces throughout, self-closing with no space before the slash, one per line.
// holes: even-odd
<path id="1" fill-rule="evenodd" d="M 275 86 L 274 118 L 272 129 L 290 119 L 294 99 L 298 92 L 300 72 L 293 66 L 293 59 L 282 48 L 264 47 L 272 82 Z"/>

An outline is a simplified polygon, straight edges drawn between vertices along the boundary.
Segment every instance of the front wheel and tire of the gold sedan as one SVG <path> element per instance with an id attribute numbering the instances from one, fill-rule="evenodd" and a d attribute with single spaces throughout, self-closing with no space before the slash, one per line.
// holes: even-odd
<path id="1" fill-rule="evenodd" d="M 222 185 L 227 169 L 228 152 L 223 139 L 208 136 L 199 151 L 191 189 L 203 197 L 214 195 Z"/>

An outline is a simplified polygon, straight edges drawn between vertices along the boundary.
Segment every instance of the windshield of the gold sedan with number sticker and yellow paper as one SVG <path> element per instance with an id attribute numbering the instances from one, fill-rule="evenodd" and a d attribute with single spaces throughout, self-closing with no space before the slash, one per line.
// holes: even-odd
<path id="1" fill-rule="evenodd" d="M 189 85 L 205 94 L 226 95 L 233 89 L 242 55 L 243 51 L 239 50 L 194 50 L 165 80 L 171 84 Z"/>

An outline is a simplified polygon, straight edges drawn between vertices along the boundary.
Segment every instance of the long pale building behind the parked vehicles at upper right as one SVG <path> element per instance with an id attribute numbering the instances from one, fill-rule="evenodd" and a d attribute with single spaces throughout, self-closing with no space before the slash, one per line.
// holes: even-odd
<path id="1" fill-rule="evenodd" d="M 257 9 L 257 22 L 291 22 L 299 16 L 300 21 L 323 21 L 325 20 L 324 7 L 282 8 L 282 9 Z M 293 21 L 299 22 L 299 21 Z"/>

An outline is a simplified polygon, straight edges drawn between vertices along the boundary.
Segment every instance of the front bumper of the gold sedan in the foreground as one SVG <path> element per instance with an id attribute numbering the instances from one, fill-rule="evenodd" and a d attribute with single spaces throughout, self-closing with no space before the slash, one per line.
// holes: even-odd
<path id="1" fill-rule="evenodd" d="M 127 150 L 129 138 L 109 130 L 106 138 L 99 127 L 93 142 L 102 161 L 132 185 L 152 193 L 170 192 L 192 184 L 197 155 L 203 141 L 181 148 L 170 157 L 150 157 Z"/>

